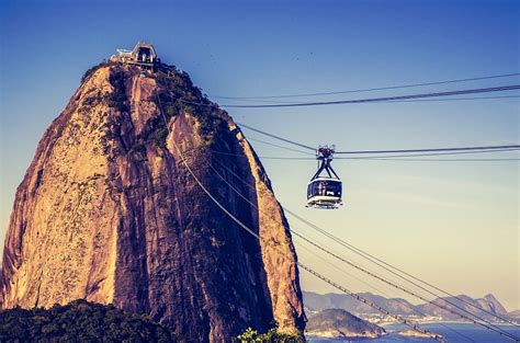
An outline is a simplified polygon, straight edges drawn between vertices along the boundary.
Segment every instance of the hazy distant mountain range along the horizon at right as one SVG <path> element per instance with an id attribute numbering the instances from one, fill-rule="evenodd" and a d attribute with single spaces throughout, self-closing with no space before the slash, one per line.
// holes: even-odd
<path id="1" fill-rule="evenodd" d="M 432 316 L 432 317 L 442 317 L 443 319 L 454 320 L 460 319 L 459 316 L 451 313 L 449 310 L 441 309 L 432 304 L 421 304 L 421 305 L 412 305 L 409 301 L 402 299 L 402 298 L 385 298 L 378 295 L 374 295 L 372 293 L 360 293 L 360 296 L 363 298 L 372 301 L 373 304 L 381 306 L 392 313 L 399 315 L 399 316 L 411 316 L 411 315 L 419 315 L 423 313 L 425 316 Z M 317 294 L 312 291 L 304 291 L 304 304 L 305 306 L 312 311 L 320 311 L 324 309 L 330 308 L 339 308 L 347 310 L 352 313 L 359 315 L 372 315 L 378 313 L 372 307 L 358 301 L 357 299 L 342 294 Z M 473 304 L 475 307 L 465 304 L 464 301 L 459 300 L 463 299 L 466 302 Z M 486 313 L 490 312 L 495 316 L 499 316 L 502 318 L 519 318 L 519 311 L 508 312 L 504 306 L 498 301 L 498 299 L 488 294 L 483 298 L 473 299 L 466 295 L 460 295 L 455 297 L 445 297 L 445 298 L 437 298 L 434 300 L 436 304 L 442 305 L 443 307 L 451 309 L 453 311 L 461 311 L 460 308 L 476 315 L 483 318 L 493 318 L 491 315 Z M 456 305 L 455 306 L 451 305 Z M 420 315 L 419 315 L 420 316 Z"/>

